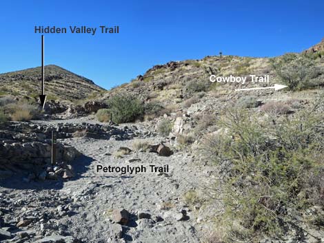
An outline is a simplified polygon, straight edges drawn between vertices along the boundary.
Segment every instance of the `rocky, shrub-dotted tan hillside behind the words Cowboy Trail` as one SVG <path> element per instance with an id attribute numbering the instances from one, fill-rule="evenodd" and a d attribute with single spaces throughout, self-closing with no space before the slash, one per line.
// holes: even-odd
<path id="1" fill-rule="evenodd" d="M 307 70 L 305 67 L 307 63 Z M 308 65 L 310 64 L 310 65 Z M 287 84 L 293 70 L 306 72 L 299 89 L 324 85 L 324 60 L 316 53 L 284 54 L 274 58 L 242 56 L 205 56 L 200 60 L 171 61 L 155 65 L 145 74 L 108 91 L 101 100 L 114 94 L 133 94 L 145 103 L 159 102 L 164 107 L 181 107 L 188 99 L 207 93 L 237 96 L 235 89 L 242 87 L 267 87 L 274 83 Z M 246 83 L 210 82 L 210 76 L 246 77 Z M 269 76 L 269 82 L 252 82 L 250 75 Z M 297 77 L 292 77 L 296 79 Z M 302 87 L 303 86 L 303 87 Z M 197 98 L 196 98 L 197 100 Z"/>

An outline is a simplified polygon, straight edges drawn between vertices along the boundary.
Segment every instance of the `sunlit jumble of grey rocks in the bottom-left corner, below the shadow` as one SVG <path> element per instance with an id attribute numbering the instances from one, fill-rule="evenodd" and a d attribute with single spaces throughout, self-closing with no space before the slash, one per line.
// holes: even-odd
<path id="1" fill-rule="evenodd" d="M 24 191 L 14 195 L 10 192 L 0 192 L 1 242 L 80 242 L 70 236 L 68 226 L 59 223 L 59 219 L 74 215 L 81 204 L 55 190 L 46 193 Z"/>

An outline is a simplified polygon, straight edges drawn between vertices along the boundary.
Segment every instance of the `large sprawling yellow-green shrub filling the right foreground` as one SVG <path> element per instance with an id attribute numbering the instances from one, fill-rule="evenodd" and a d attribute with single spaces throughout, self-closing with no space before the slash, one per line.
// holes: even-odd
<path id="1" fill-rule="evenodd" d="M 315 203 L 322 202 L 323 172 L 318 165 L 324 156 L 324 127 L 320 124 L 323 114 L 314 109 L 269 120 L 246 110 L 223 112 L 218 125 L 224 132 L 206 136 L 201 151 L 219 167 L 215 190 L 225 207 L 219 220 L 230 224 L 228 242 L 281 236 L 298 210 L 314 204 L 310 194 L 315 184 Z M 318 175 L 312 176 L 316 182 L 307 184 L 305 178 L 312 171 Z"/>

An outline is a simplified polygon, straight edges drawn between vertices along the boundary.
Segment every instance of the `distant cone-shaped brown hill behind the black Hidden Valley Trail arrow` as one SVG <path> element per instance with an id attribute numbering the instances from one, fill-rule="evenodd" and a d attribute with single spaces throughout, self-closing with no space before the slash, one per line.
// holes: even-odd
<path id="1" fill-rule="evenodd" d="M 45 94 L 48 99 L 79 100 L 104 89 L 90 79 L 74 74 L 57 65 L 45 66 Z M 0 74 L 0 95 L 30 96 L 41 93 L 41 67 Z"/>

